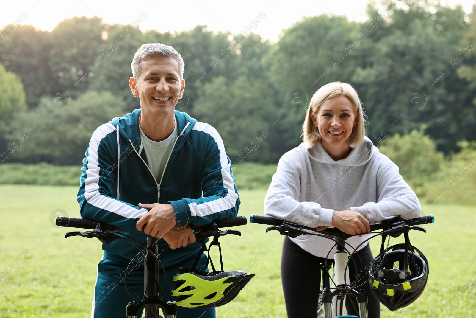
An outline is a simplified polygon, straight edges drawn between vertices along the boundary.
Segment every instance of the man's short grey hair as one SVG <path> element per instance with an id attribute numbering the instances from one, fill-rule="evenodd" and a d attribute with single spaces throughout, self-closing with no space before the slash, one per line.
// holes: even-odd
<path id="1" fill-rule="evenodd" d="M 182 55 L 178 53 L 173 47 L 162 43 L 146 43 L 142 44 L 139 50 L 134 54 L 130 68 L 132 69 L 132 76 L 138 80 L 140 76 L 140 63 L 149 57 L 169 56 L 177 60 L 178 71 L 180 72 L 180 80 L 183 79 L 183 70 L 185 63 Z"/>

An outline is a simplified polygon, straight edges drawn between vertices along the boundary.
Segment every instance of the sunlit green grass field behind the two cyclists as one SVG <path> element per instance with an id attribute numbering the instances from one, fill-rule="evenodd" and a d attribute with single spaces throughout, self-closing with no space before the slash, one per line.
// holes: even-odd
<path id="1" fill-rule="evenodd" d="M 64 238 L 68 230 L 54 226 L 62 209 L 79 217 L 74 186 L 0 185 L 0 317 L 86 318 L 102 254 L 97 239 Z M 240 191 L 240 215 L 263 215 L 265 190 Z M 407 308 L 381 317 L 476 317 L 476 220 L 474 208 L 424 205 L 436 223 L 426 234 L 412 232 L 411 241 L 430 263 L 422 296 Z M 53 222 L 53 223 L 51 223 Z M 218 308 L 221 318 L 284 318 L 279 259 L 282 236 L 265 226 L 248 224 L 242 236 L 220 239 L 226 269 L 255 273 L 230 304 Z M 374 253 L 380 239 L 371 243 Z M 303 277 L 305 277 L 303 273 Z M 1 275 L 1 273 L 0 273 Z M 303 278 L 305 279 L 305 278 Z"/>

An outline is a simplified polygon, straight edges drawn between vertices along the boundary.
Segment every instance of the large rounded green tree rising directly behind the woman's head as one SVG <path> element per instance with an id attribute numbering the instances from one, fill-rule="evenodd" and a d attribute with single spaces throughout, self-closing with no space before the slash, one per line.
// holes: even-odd
<path id="1" fill-rule="evenodd" d="M 345 51 L 355 41 L 357 27 L 346 17 L 323 14 L 302 18 L 283 32 L 264 57 L 270 80 L 278 90 L 277 112 L 284 114 L 276 124 L 281 139 L 277 151 L 281 154 L 301 142 L 306 110 L 317 89 L 328 82 L 350 82 L 355 52 Z"/>

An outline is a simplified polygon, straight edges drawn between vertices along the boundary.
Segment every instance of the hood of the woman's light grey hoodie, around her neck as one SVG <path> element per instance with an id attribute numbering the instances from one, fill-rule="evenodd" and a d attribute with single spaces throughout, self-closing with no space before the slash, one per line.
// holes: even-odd
<path id="1" fill-rule="evenodd" d="M 307 149 L 305 143 L 302 143 L 300 147 L 306 148 L 307 154 L 309 154 L 309 156 L 317 162 L 323 164 L 339 164 L 346 166 L 359 166 L 367 164 L 367 162 L 369 162 L 369 160 L 374 156 L 374 154 L 378 152 L 377 147 L 372 144 L 372 141 L 368 139 L 367 136 L 364 137 L 364 142 L 362 144 L 359 144 L 357 147 L 352 148 L 347 158 L 341 160 L 332 159 L 329 154 L 327 154 L 320 141 L 317 142 L 310 149 Z"/>

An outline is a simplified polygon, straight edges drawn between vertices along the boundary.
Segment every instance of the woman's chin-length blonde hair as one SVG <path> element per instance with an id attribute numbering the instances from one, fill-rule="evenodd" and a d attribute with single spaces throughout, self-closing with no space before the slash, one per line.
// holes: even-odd
<path id="1" fill-rule="evenodd" d="M 306 112 L 306 118 L 302 125 L 302 137 L 303 141 L 307 144 L 307 148 L 311 148 L 318 141 L 321 140 L 321 135 L 317 130 L 317 127 L 312 121 L 312 116 L 319 111 L 322 103 L 329 98 L 336 96 L 346 96 L 350 102 L 354 105 L 357 112 L 357 124 L 352 129 L 352 133 L 347 139 L 349 145 L 354 148 L 364 142 L 365 136 L 365 119 L 364 111 L 362 110 L 362 104 L 358 98 L 356 90 L 349 83 L 344 82 L 332 82 L 328 83 L 317 90 L 311 98 L 309 108 Z"/>

